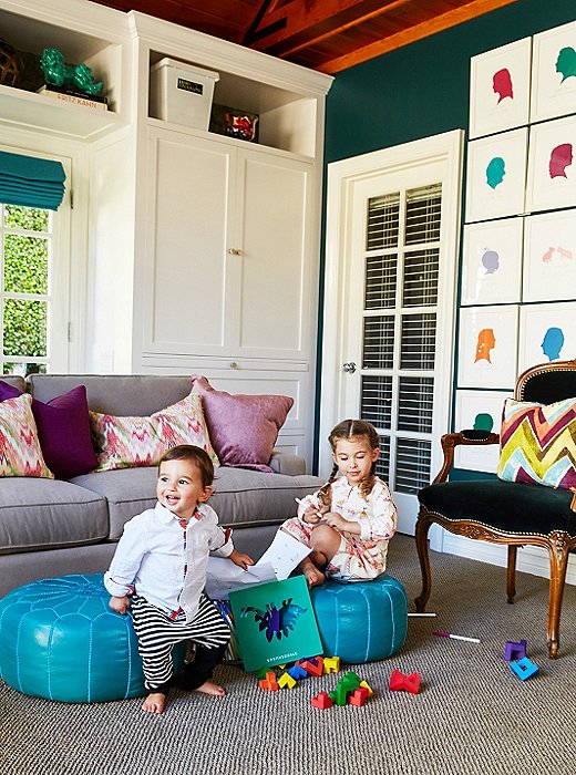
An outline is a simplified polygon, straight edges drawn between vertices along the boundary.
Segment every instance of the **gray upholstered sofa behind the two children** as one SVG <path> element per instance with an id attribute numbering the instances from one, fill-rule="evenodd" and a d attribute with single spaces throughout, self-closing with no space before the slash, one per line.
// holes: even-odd
<path id="1" fill-rule="evenodd" d="M 86 388 L 91 410 L 145 416 L 191 392 L 188 376 L 34 374 L 2 378 L 42 402 Z M 297 497 L 321 484 L 302 458 L 272 453 L 274 473 L 216 468 L 210 505 L 235 528 L 240 551 L 259 557 L 277 525 L 296 514 Z M 127 519 L 155 503 L 156 468 L 122 468 L 70 480 L 0 479 L 0 597 L 34 579 L 104 571 Z"/>

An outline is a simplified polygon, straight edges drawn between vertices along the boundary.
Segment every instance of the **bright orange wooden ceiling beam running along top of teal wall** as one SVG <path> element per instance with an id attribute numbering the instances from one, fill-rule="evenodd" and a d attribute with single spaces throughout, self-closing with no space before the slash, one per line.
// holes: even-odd
<path id="1" fill-rule="evenodd" d="M 451 27 L 456 27 L 456 24 L 470 21 L 471 19 L 481 17 L 484 13 L 490 13 L 491 11 L 495 11 L 504 6 L 511 6 L 513 2 L 517 2 L 517 0 L 471 0 L 471 2 L 467 2 L 464 6 L 436 16 L 433 19 L 421 22 L 420 24 L 414 24 L 402 32 L 383 38 L 376 43 L 370 43 L 369 45 L 364 45 L 363 48 L 348 54 L 343 54 L 342 56 L 337 56 L 329 62 L 318 64 L 315 70 L 333 75 L 341 70 L 352 68 L 354 64 L 367 62 L 374 56 L 381 56 L 390 51 L 395 51 L 403 45 L 409 45 L 418 40 L 433 35 L 436 32 L 442 32 Z"/>

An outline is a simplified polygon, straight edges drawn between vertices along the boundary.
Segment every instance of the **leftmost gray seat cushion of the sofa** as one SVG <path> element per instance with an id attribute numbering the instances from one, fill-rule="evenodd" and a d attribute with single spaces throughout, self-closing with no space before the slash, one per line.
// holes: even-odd
<path id="1" fill-rule="evenodd" d="M 0 554 L 95 544 L 107 534 L 99 495 L 59 479 L 2 479 Z M 38 562 L 40 574 L 41 555 Z"/>

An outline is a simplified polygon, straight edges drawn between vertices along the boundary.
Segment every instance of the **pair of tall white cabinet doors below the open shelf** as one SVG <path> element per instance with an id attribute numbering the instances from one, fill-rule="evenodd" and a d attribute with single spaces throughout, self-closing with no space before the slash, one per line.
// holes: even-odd
<path id="1" fill-rule="evenodd" d="M 148 130 L 144 354 L 308 360 L 313 167 Z"/>

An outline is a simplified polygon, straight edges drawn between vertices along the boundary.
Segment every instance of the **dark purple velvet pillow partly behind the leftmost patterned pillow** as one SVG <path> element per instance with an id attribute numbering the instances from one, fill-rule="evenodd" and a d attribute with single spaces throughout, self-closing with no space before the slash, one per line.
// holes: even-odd
<path id="1" fill-rule="evenodd" d="M 0 401 L 21 394 L 18 388 L 0 380 Z M 32 399 L 32 414 L 45 464 L 58 479 L 71 479 L 96 467 L 84 385 L 47 404 Z"/>

